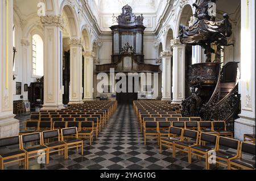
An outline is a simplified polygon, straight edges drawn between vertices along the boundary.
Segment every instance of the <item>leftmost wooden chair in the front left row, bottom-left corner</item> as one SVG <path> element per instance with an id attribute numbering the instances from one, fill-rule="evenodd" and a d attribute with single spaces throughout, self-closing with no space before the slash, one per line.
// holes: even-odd
<path id="1" fill-rule="evenodd" d="M 6 146 L 18 145 L 18 148 L 11 149 L 8 151 L 0 150 L 0 169 L 4 170 L 5 165 L 13 162 L 24 161 L 24 167 L 26 167 L 26 153 L 21 149 L 20 136 L 0 138 L 0 148 L 5 148 Z"/>

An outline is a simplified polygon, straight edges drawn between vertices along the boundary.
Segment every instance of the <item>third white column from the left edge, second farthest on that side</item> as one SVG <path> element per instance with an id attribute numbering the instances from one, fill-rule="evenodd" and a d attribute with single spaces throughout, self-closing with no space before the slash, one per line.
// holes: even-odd
<path id="1" fill-rule="evenodd" d="M 71 39 L 70 44 L 70 96 L 69 104 L 82 103 L 82 46 L 80 39 Z"/>

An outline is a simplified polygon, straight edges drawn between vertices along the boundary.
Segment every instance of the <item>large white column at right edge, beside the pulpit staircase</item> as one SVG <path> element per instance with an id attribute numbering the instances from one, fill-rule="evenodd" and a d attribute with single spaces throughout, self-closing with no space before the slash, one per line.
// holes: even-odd
<path id="1" fill-rule="evenodd" d="M 241 114 L 234 137 L 255 134 L 255 1 L 241 1 Z"/>

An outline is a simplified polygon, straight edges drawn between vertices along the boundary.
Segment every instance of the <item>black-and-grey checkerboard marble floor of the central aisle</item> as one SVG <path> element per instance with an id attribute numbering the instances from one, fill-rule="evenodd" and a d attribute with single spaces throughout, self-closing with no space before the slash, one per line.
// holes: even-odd
<path id="1" fill-rule="evenodd" d="M 26 116 L 17 116 L 20 120 L 20 127 L 23 129 L 23 122 Z M 11 148 L 9 148 L 11 149 Z M 227 150 L 234 153 L 234 150 Z M 100 133 L 92 146 L 85 141 L 84 155 L 70 150 L 68 159 L 63 155 L 51 154 L 49 164 L 38 164 L 36 159 L 30 160 L 30 169 L 47 170 L 202 170 L 204 162 L 192 159 L 192 164 L 187 162 L 186 154 L 177 153 L 172 158 L 172 150 L 163 148 L 159 153 L 159 146 L 156 140 L 147 140 L 144 146 L 143 134 L 139 129 L 137 116 L 131 105 L 118 105 L 117 111 L 108 121 L 108 125 Z M 251 155 L 246 158 L 254 159 Z M 17 164 L 7 165 L 7 169 L 23 169 Z M 216 169 L 211 166 L 211 169 Z M 219 167 L 218 169 L 223 169 Z"/>

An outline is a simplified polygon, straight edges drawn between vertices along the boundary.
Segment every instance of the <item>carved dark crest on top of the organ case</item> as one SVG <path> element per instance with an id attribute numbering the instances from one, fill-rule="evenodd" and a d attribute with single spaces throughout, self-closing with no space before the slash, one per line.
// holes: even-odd
<path id="1" fill-rule="evenodd" d="M 133 14 L 133 9 L 131 6 L 126 5 L 122 8 L 122 13 L 119 16 L 113 14 L 113 25 L 118 24 L 140 24 L 143 25 L 143 14 L 136 16 Z M 126 25 L 127 26 L 127 25 Z"/>

